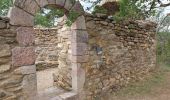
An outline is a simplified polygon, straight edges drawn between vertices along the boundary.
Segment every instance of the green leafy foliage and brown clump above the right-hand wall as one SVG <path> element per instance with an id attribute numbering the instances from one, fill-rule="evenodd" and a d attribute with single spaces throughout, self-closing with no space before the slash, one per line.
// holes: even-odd
<path id="1" fill-rule="evenodd" d="M 113 20 L 121 21 L 121 20 L 137 20 L 137 19 L 146 19 L 149 16 L 155 15 L 155 9 L 146 10 L 145 0 L 119 0 L 115 1 L 116 4 L 113 4 L 115 8 L 111 6 L 95 6 L 93 14 L 103 13 L 107 14 L 108 12 L 112 12 Z M 109 2 L 112 3 L 112 2 Z M 155 5 L 155 3 L 153 4 Z M 153 6 L 152 5 L 152 6 Z M 110 8 L 109 8 L 110 7 Z M 119 8 L 117 8 L 119 7 Z M 112 11 L 116 9 L 115 11 Z"/>

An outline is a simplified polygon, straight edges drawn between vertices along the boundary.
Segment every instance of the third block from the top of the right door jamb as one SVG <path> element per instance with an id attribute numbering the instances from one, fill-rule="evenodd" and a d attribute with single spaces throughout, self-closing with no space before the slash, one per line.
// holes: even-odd
<path id="1" fill-rule="evenodd" d="M 87 52 L 87 44 L 86 43 L 72 43 L 71 50 L 73 56 L 82 56 Z"/>

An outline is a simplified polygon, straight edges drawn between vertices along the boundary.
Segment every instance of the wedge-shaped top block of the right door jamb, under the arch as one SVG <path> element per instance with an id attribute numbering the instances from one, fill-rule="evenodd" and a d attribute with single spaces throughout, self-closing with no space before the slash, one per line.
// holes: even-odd
<path id="1" fill-rule="evenodd" d="M 86 30 L 86 22 L 84 16 L 79 16 L 71 25 L 72 30 Z"/>

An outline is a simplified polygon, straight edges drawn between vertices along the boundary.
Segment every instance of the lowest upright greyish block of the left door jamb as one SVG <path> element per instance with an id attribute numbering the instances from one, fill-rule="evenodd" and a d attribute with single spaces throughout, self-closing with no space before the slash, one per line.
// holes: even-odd
<path id="1" fill-rule="evenodd" d="M 25 75 L 22 81 L 24 100 L 35 100 L 37 95 L 36 74 Z"/>

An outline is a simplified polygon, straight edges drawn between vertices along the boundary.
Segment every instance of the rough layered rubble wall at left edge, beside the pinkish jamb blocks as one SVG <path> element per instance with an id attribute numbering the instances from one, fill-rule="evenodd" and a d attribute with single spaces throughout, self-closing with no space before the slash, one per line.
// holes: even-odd
<path id="1" fill-rule="evenodd" d="M 0 17 L 0 99 L 13 100 L 22 95 L 23 76 L 13 72 L 12 49 L 17 45 L 16 32 L 9 27 L 9 19 Z"/>

